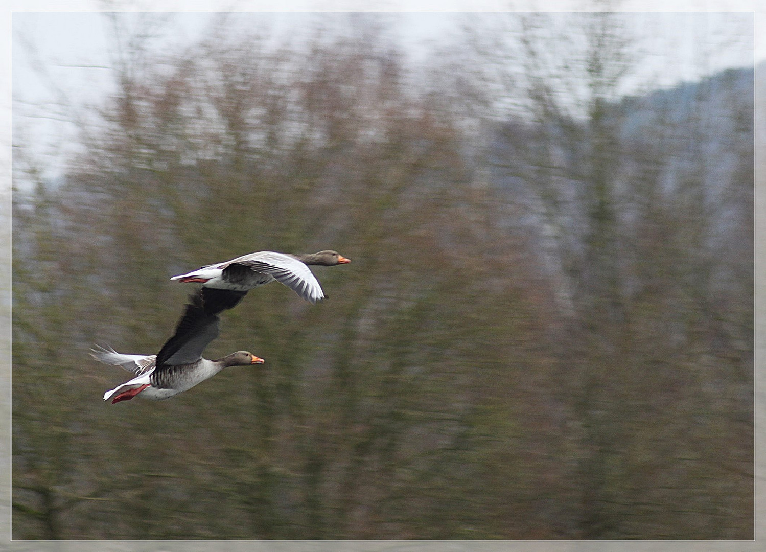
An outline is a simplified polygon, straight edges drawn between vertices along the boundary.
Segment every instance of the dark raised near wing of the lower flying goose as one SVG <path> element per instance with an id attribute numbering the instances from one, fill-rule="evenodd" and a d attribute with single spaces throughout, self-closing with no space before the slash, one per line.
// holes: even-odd
<path id="1" fill-rule="evenodd" d="M 215 314 L 205 311 L 205 300 L 201 291 L 190 295 L 189 301 L 175 327 L 175 334 L 157 353 L 155 373 L 162 373 L 168 370 L 169 366 L 200 360 L 208 343 L 218 337 L 220 319 Z"/>

